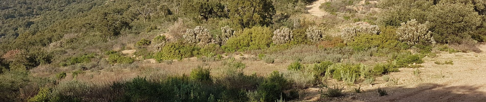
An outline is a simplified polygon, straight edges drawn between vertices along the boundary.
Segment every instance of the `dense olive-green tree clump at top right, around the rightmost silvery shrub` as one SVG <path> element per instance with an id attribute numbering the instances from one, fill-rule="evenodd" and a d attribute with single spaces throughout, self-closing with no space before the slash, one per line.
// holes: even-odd
<path id="1" fill-rule="evenodd" d="M 419 23 L 430 21 L 430 30 L 438 43 L 456 43 L 470 37 L 481 16 L 469 3 L 453 3 L 447 0 L 382 0 L 379 7 L 385 9 L 379 18 L 383 25 L 399 26 L 400 23 L 417 19 Z M 447 15 L 446 15 L 447 14 Z M 451 15 L 451 16 L 449 16 Z"/>

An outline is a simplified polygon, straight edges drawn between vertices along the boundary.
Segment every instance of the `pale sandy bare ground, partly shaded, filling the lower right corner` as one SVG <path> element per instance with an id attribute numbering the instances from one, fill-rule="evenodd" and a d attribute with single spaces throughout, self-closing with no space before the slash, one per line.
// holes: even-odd
<path id="1" fill-rule="evenodd" d="M 302 91 L 299 102 L 486 102 L 486 44 L 478 47 L 482 53 L 444 52 L 436 58 L 424 58 L 419 75 L 414 75 L 412 68 L 390 73 L 397 84 L 378 77 L 375 85 L 361 85 L 362 93 L 354 92 L 358 86 L 345 87 L 346 96 L 325 99 L 319 98 L 319 88 L 308 88 Z M 446 60 L 452 60 L 453 65 L 434 63 Z M 389 95 L 380 97 L 379 87 Z"/>

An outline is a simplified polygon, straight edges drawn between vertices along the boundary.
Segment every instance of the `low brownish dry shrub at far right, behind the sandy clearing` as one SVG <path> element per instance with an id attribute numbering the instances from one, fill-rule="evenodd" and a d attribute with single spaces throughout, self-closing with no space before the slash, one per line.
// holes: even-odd
<path id="1" fill-rule="evenodd" d="M 472 51 L 475 53 L 480 53 L 481 49 L 476 46 L 477 41 L 473 39 L 462 39 L 459 43 L 451 44 L 455 49 L 461 50 L 462 52 Z"/>

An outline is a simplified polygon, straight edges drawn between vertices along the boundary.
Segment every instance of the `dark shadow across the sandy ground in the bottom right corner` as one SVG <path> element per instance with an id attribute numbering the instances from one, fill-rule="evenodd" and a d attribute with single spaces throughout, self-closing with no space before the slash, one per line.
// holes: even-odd
<path id="1" fill-rule="evenodd" d="M 387 90 L 387 96 L 379 97 L 377 89 L 371 89 L 359 97 L 368 98 L 364 102 L 486 102 L 485 85 L 426 83 L 418 87 L 382 87 Z"/>

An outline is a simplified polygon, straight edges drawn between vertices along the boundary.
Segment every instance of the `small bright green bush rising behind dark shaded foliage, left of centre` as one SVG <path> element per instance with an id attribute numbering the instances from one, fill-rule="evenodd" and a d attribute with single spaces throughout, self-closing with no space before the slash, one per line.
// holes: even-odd
<path id="1" fill-rule="evenodd" d="M 210 69 L 197 67 L 191 71 L 191 79 L 201 82 L 211 82 Z"/>

